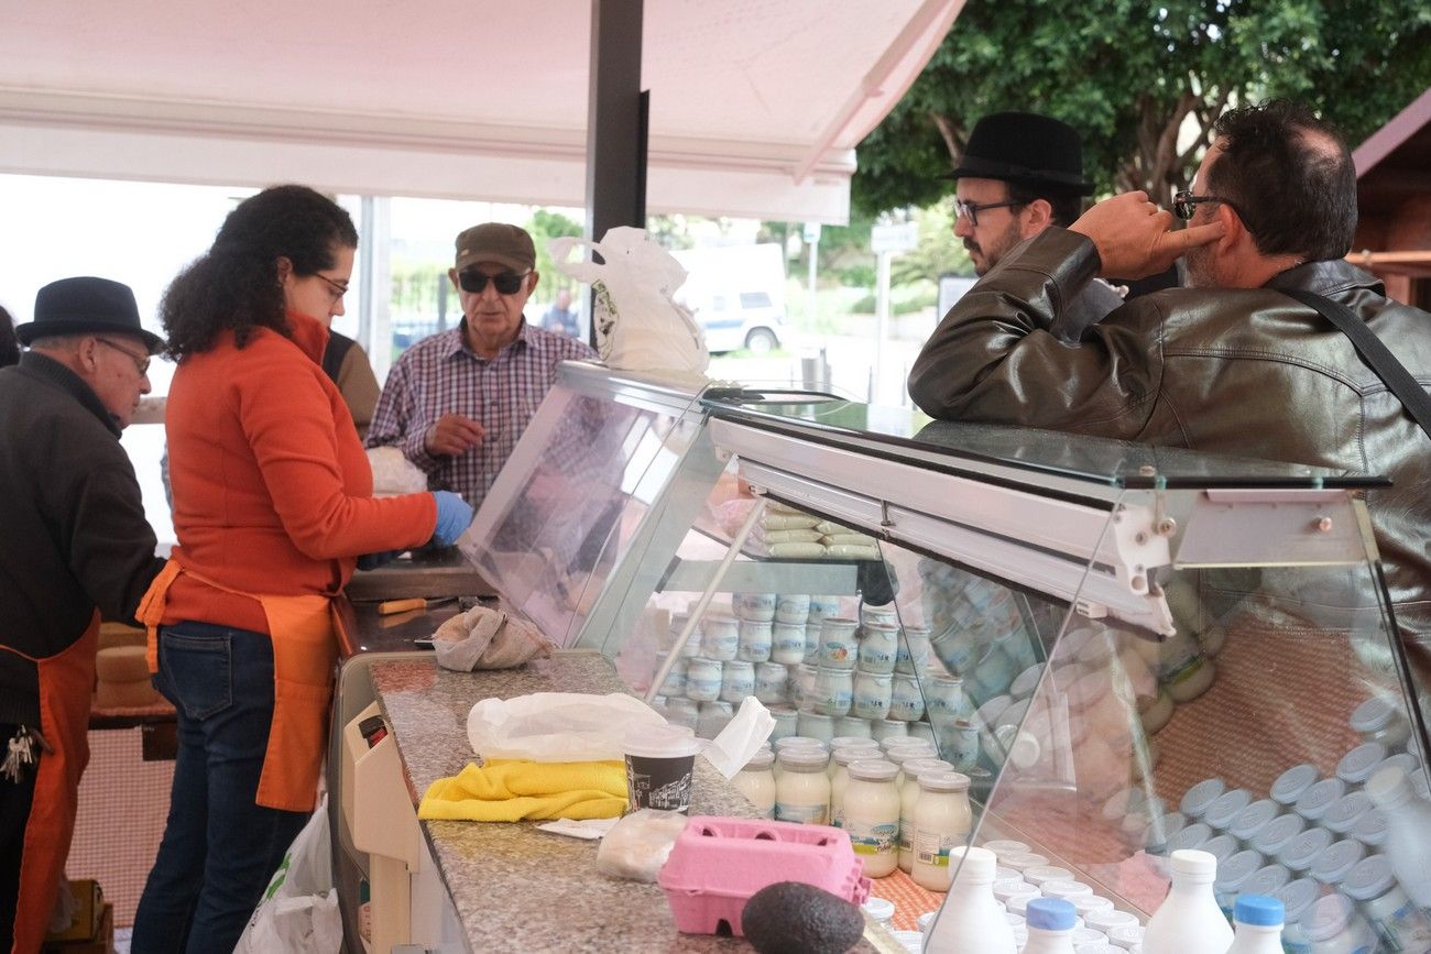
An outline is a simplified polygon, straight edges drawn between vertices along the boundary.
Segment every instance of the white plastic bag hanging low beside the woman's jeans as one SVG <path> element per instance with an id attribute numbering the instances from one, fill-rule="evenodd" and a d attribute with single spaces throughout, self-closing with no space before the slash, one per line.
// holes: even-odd
<path id="1" fill-rule="evenodd" d="M 342 945 L 325 795 L 289 845 L 233 954 L 338 954 Z"/>

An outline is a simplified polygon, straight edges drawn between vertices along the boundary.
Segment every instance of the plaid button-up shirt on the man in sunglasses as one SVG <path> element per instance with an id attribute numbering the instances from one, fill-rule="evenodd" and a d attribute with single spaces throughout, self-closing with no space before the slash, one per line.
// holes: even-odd
<path id="1" fill-rule="evenodd" d="M 449 332 L 425 338 L 388 372 L 368 428 L 368 446 L 394 445 L 428 475 L 428 486 L 456 491 L 482 505 L 497 472 L 557 382 L 557 363 L 595 359 L 584 342 L 522 320 L 517 339 L 485 360 L 467 348 L 467 319 Z M 432 456 L 428 429 L 445 413 L 459 413 L 487 428 L 487 439 L 467 453 Z"/>

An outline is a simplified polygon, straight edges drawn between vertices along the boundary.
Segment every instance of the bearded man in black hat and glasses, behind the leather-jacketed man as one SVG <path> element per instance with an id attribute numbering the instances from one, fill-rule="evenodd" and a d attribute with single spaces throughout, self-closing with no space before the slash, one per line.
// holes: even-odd
<path id="1" fill-rule="evenodd" d="M 993 113 L 969 134 L 959 167 L 954 235 L 983 276 L 1013 246 L 1049 226 L 1068 227 L 1093 186 L 1083 180 L 1083 142 L 1066 123 L 1037 113 Z M 1052 332 L 1076 342 L 1123 303 L 1106 282 L 1090 282 Z"/>

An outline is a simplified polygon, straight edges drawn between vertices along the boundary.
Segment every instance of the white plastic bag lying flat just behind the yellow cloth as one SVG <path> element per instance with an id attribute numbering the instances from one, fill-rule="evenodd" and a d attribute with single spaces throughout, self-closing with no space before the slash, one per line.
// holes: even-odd
<path id="1" fill-rule="evenodd" d="M 482 758 L 587 762 L 625 758 L 631 725 L 665 725 L 661 714 L 624 692 L 535 692 L 482 699 L 467 717 L 467 737 Z"/>

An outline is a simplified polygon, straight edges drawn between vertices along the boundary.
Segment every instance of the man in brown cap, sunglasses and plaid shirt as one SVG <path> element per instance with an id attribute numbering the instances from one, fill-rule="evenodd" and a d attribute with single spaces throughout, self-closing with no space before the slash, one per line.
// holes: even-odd
<path id="1" fill-rule="evenodd" d="M 501 222 L 467 229 L 448 277 L 462 320 L 392 366 L 366 443 L 401 448 L 431 489 L 455 491 L 477 509 L 555 383 L 557 365 L 595 352 L 522 315 L 539 277 L 524 229 Z"/>

